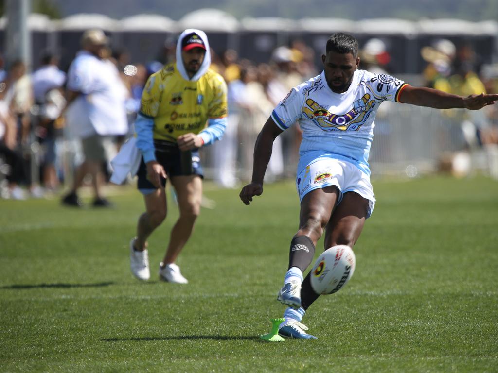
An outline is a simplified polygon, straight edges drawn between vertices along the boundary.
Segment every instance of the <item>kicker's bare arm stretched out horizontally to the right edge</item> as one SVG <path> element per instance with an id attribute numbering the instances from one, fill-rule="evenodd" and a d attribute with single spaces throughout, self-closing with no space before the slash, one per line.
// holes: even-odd
<path id="1" fill-rule="evenodd" d="M 399 94 L 399 101 L 417 106 L 429 106 L 436 109 L 466 108 L 479 110 L 492 105 L 498 100 L 498 94 L 471 94 L 464 97 L 445 93 L 426 87 L 406 86 Z"/>

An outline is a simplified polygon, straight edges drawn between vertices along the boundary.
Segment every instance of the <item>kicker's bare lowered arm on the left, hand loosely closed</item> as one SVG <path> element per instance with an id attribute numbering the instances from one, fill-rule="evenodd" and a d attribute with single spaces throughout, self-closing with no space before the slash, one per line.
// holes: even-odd
<path id="1" fill-rule="evenodd" d="M 261 132 L 257 135 L 254 145 L 254 164 L 252 166 L 251 183 L 242 188 L 239 196 L 244 204 L 249 205 L 254 195 L 261 195 L 263 192 L 263 179 L 266 167 L 271 157 L 273 141 L 282 133 L 282 130 L 275 124 L 271 117 L 264 123 Z"/>

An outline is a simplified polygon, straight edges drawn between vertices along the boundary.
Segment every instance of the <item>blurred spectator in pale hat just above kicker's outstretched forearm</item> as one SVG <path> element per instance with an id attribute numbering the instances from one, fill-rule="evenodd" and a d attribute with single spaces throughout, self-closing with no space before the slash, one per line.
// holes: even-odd
<path id="1" fill-rule="evenodd" d="M 447 39 L 438 39 L 420 50 L 423 60 L 428 63 L 422 72 L 425 87 L 451 92 L 448 79 L 452 74 L 455 52 L 455 44 Z"/>

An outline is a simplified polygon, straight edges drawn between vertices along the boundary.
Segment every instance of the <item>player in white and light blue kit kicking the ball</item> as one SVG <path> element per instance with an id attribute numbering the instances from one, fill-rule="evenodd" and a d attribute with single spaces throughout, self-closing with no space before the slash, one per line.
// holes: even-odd
<path id="1" fill-rule="evenodd" d="M 358 70 L 358 41 L 344 33 L 329 38 L 322 62 L 322 74 L 292 89 L 264 124 L 254 149 L 252 182 L 240 193 L 249 205 L 263 192 L 272 143 L 298 122 L 303 131 L 296 178 L 299 230 L 290 244 L 289 269 L 277 299 L 289 306 L 278 333 L 300 339 L 317 339 L 300 323 L 319 296 L 311 287 L 310 274 L 303 280 L 317 241 L 325 232 L 325 249 L 353 247 L 372 213 L 375 197 L 368 156 L 380 103 L 478 110 L 498 99 L 498 94 L 463 97 L 411 87 L 389 75 Z"/>

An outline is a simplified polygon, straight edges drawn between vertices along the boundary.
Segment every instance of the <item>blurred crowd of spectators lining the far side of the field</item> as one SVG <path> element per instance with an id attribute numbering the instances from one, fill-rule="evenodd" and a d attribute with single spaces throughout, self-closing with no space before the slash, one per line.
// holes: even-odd
<path id="1" fill-rule="evenodd" d="M 146 64 L 134 63 L 124 49 L 102 50 L 101 57 L 112 62 L 117 79 L 125 89 L 123 105 L 128 119 L 128 131 L 114 136 L 110 142 L 109 160 L 133 134 L 143 87 L 151 74 L 174 61 L 174 47 L 175 43 L 165 43 L 157 60 Z M 323 47 L 325 49 L 325 45 Z M 483 65 L 471 44 L 457 46 L 450 40 L 438 39 L 432 45 L 424 46 L 420 54 L 426 63 L 423 74 L 419 82 L 407 83 L 422 82 L 427 87 L 464 96 L 498 93 L 498 66 Z M 316 64 L 313 48 L 299 39 L 276 48 L 265 63 L 241 59 L 233 49 L 221 54 L 212 50 L 211 55 L 211 68 L 228 84 L 229 121 L 224 138 L 202 149 L 202 157 L 206 177 L 220 187 L 233 188 L 250 178 L 254 142 L 272 109 L 292 87 L 320 74 L 322 69 Z M 73 170 L 83 162 L 78 139 L 72 134 L 70 120 L 63 112 L 67 71 L 59 68 L 57 55 L 44 53 L 40 57 L 40 67 L 32 73 L 28 73 L 28 67 L 22 61 L 4 67 L 0 59 L 2 198 L 59 195 L 71 183 Z M 391 53 L 381 39 L 371 38 L 363 43 L 360 57 L 361 69 L 396 75 L 390 70 Z M 473 114 L 456 119 L 462 122 L 464 148 L 498 144 L 496 107 Z M 461 116 L 450 110 L 445 111 L 445 115 Z M 380 112 L 378 116 L 382 118 Z M 298 126 L 277 138 L 267 182 L 295 176 L 299 144 Z M 112 173 L 109 162 L 104 163 L 102 169 L 109 179 Z"/>

